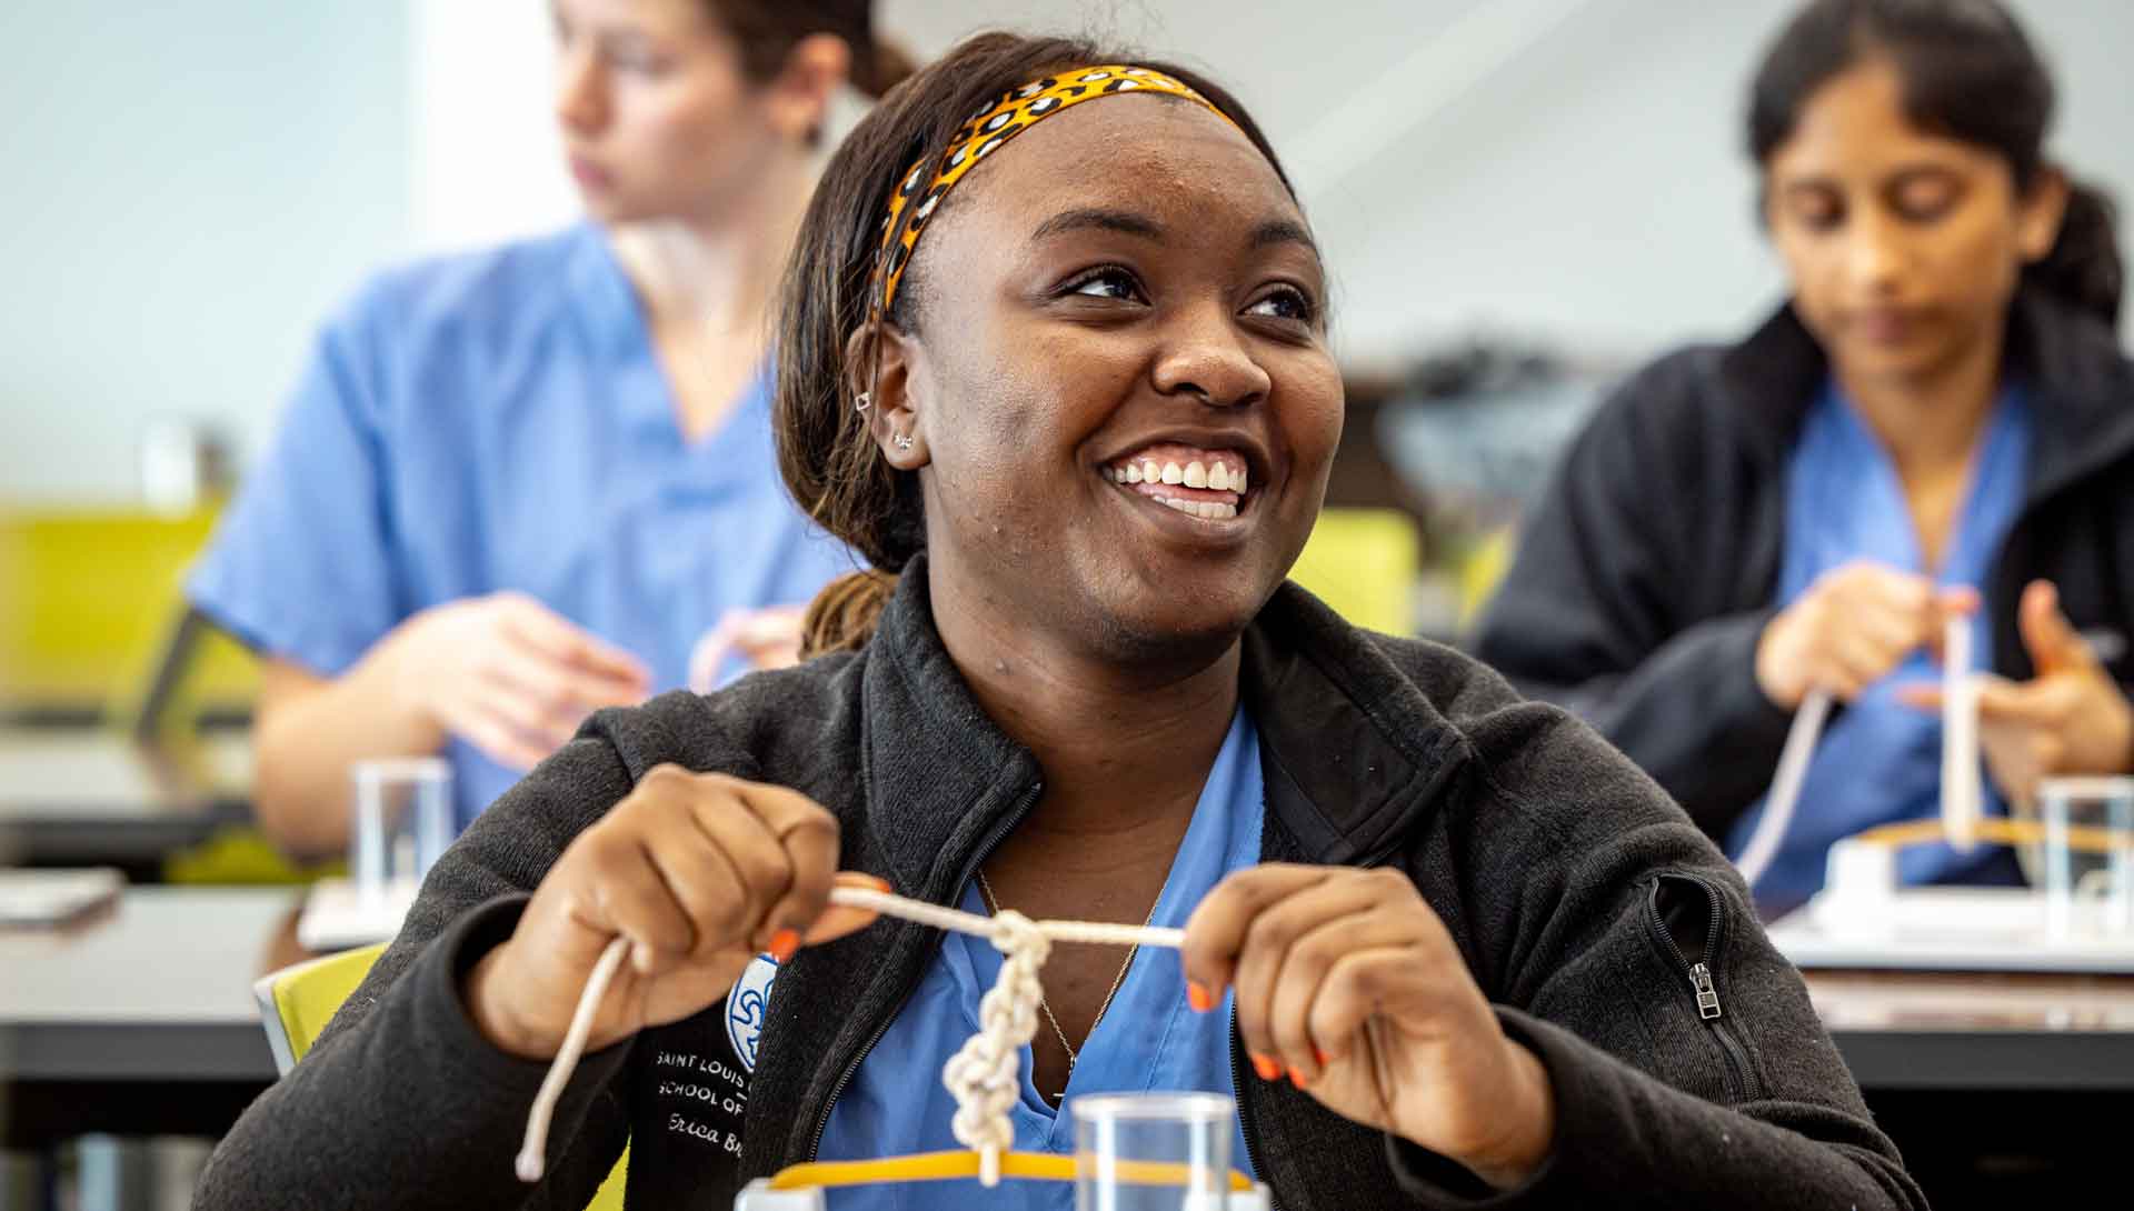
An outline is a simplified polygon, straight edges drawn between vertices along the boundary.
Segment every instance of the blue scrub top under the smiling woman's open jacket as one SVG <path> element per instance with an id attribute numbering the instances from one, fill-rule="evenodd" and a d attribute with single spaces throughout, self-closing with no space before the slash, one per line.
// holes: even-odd
<path id="1" fill-rule="evenodd" d="M 1265 800 L 1259 774 L 1259 731 L 1244 710 L 1229 725 L 1208 772 L 1193 823 L 1157 895 L 1152 923 L 1182 927 L 1193 908 L 1233 870 L 1259 863 Z M 962 906 L 986 913 L 977 883 Z M 822 1160 L 866 1160 L 913 1151 L 960 1149 L 950 1132 L 956 1100 L 941 1087 L 941 1066 L 977 1034 L 977 1000 L 1001 974 L 1001 953 L 984 938 L 950 934 L 898 1011 L 888 1034 L 860 1062 L 851 1085 L 830 1109 Z M 1082 1094 L 1212 1092 L 1236 1096 L 1229 1055 L 1231 996 L 1214 1013 L 1187 1006 L 1184 972 L 1174 951 L 1137 951 L 1112 1006 L 1097 1019 L 1067 1079 L 1071 1104 Z M 1039 1030 L 1050 1030 L 1039 1015 Z M 1073 1153 L 1073 1115 L 1058 1113 L 1031 1083 L 1031 1049 L 1022 1049 L 1022 1098 L 1009 1117 L 1018 1151 Z M 1251 1173 L 1242 1126 L 1231 1128 L 1229 1164 Z M 924 1185 L 862 1185 L 830 1192 L 830 1211 L 922 1211 L 933 1207 L 999 1207 L 1071 1211 L 1073 1185 L 1003 1181 L 982 1190 L 975 1179 Z"/>

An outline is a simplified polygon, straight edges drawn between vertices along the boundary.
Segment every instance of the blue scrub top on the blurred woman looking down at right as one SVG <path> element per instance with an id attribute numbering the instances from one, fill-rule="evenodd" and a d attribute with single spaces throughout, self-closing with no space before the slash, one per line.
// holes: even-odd
<path id="1" fill-rule="evenodd" d="M 1837 384 L 1827 384 L 1801 429 L 1786 482 L 1786 554 L 1778 606 L 1799 599 L 1818 576 L 1852 561 L 1874 561 L 1931 576 L 1944 588 L 1982 588 L 2002 539 L 2023 505 L 2032 414 L 2021 388 L 2002 390 L 1972 454 L 1972 482 L 1957 514 L 1942 567 L 1925 567 L 1904 482 L 1874 431 Z M 1972 667 L 1993 667 L 1985 610 L 1972 616 Z M 1912 652 L 1859 701 L 1837 712 L 1801 782 L 1793 825 L 1756 883 L 1773 900 L 1822 887 L 1831 842 L 1863 829 L 1936 817 L 1942 808 L 1942 716 L 1897 701 L 1904 684 L 1938 684 L 1940 665 Z M 1985 810 L 2008 806 L 1985 785 Z M 1726 849 L 1739 855 L 1763 819 L 1763 804 L 1741 817 Z M 1948 844 L 1910 846 L 1897 857 L 1904 883 L 2010 883 L 2021 874 L 2000 846 L 1957 853 Z"/>

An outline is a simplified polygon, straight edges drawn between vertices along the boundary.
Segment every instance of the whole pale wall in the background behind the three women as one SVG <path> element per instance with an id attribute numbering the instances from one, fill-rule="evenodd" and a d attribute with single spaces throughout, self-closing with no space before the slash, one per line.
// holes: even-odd
<path id="1" fill-rule="evenodd" d="M 2059 66 L 2055 149 L 2134 207 L 2134 2 L 2017 4 Z M 1065 23 L 1216 72 L 1306 194 L 1357 362 L 1477 326 L 1626 360 L 1778 294 L 1739 115 L 1793 0 L 879 11 L 922 53 Z M 0 499 L 128 497 L 156 414 L 256 448 L 365 267 L 568 222 L 546 23 L 542 0 L 0 6 Z"/>

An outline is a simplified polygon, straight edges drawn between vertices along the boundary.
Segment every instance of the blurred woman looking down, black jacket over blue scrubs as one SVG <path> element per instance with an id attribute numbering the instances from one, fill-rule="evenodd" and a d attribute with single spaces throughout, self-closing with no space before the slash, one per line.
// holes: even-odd
<path id="1" fill-rule="evenodd" d="M 1793 301 L 1592 420 L 1479 652 L 1586 716 L 1739 853 L 1788 716 L 1827 727 L 1758 883 L 1938 802 L 1933 646 L 1968 618 L 1993 810 L 2134 768 L 2134 365 L 2108 200 L 2044 162 L 2053 85 L 1991 0 L 1818 0 L 1756 75 L 1750 149 Z M 2008 851 L 1901 874 L 2014 881 Z"/>

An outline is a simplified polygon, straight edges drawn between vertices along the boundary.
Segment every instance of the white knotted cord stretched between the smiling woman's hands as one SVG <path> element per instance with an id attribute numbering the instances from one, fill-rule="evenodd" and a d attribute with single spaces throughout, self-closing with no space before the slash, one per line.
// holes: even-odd
<path id="1" fill-rule="evenodd" d="M 1001 1179 L 1001 1151 L 1014 1143 L 1014 1128 L 1007 1109 L 1016 1100 L 1018 1062 L 1022 1045 L 1037 1030 L 1037 1000 L 1044 996 L 1037 970 L 1044 966 L 1052 942 L 1090 942 L 1101 947 L 1184 947 L 1184 930 L 1163 930 L 1154 925 L 1110 925 L 1103 921 L 1031 921 L 1020 913 L 980 917 L 960 908 L 943 908 L 924 900 L 907 900 L 875 891 L 871 887 L 832 887 L 830 904 L 864 908 L 883 917 L 901 917 L 935 930 L 954 930 L 990 938 L 1007 959 L 1001 964 L 1001 979 L 980 1000 L 980 1021 L 984 1023 L 962 1049 L 950 1057 L 941 1070 L 941 1083 L 956 1096 L 956 1139 L 980 1153 L 980 1179 L 994 1185 Z M 548 1077 L 542 1079 L 527 1113 L 525 1143 L 519 1147 L 519 1181 L 540 1181 L 546 1170 L 548 1121 L 555 1104 L 570 1083 L 578 1057 L 585 1053 L 585 1038 L 593 1030 L 593 1015 L 608 996 L 608 981 L 615 968 L 623 966 L 630 953 L 630 938 L 617 936 L 593 964 L 593 974 L 585 981 L 578 1008 L 563 1034 Z M 1005 1100 L 1003 1100 L 1005 1089 Z"/>

